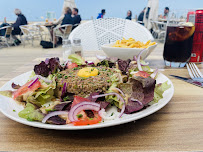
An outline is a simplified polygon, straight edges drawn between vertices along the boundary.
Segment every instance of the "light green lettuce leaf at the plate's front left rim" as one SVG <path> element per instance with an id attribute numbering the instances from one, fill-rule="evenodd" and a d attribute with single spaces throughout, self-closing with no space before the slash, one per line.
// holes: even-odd
<path id="1" fill-rule="evenodd" d="M 29 121 L 42 121 L 44 118 L 44 115 L 39 110 L 36 110 L 36 107 L 31 103 L 27 103 L 25 109 L 20 111 L 18 116 Z"/>

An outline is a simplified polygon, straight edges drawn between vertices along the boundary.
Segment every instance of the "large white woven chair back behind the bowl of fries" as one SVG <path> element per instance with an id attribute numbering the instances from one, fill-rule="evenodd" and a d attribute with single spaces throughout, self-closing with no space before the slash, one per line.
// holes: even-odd
<path id="1" fill-rule="evenodd" d="M 84 51 L 101 50 L 101 45 L 126 38 L 142 42 L 153 41 L 151 33 L 139 23 L 121 18 L 91 20 L 75 28 L 69 39 L 81 39 Z"/>

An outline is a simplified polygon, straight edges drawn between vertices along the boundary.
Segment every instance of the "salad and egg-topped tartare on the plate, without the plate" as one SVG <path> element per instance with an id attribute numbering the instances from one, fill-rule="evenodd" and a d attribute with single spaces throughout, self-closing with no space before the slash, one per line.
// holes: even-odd
<path id="1" fill-rule="evenodd" d="M 18 115 L 29 121 L 57 125 L 71 122 L 74 125 L 88 125 L 101 122 L 102 115 L 97 111 L 98 107 L 99 110 L 105 111 L 110 105 L 116 106 L 122 114 L 131 114 L 157 103 L 171 87 L 167 81 L 157 84 L 158 69 L 152 70 L 148 63 L 136 57 L 133 60 L 105 58 L 97 64 L 87 64 L 76 54 L 68 58 L 72 63 L 69 61 L 63 67 L 59 58 L 42 61 L 34 66 L 26 84 L 19 86 L 13 83 L 15 91 L 0 91 L 0 94 L 26 103 Z M 96 72 L 88 71 L 90 67 L 95 67 Z M 84 72 L 82 74 L 89 72 L 90 76 L 79 76 L 80 70 Z M 73 107 L 84 102 L 86 105 L 81 107 L 91 105 L 93 109 L 83 109 L 81 113 L 77 112 L 76 117 L 73 113 L 72 117 L 69 113 L 70 117 L 67 116 L 67 112 L 77 109 Z M 73 121 L 74 118 L 79 119 L 77 123 Z"/>

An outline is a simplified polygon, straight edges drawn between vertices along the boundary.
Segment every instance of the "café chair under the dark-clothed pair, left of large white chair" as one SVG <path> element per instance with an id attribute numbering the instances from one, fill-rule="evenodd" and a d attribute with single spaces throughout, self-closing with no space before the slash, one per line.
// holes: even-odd
<path id="1" fill-rule="evenodd" d="M 53 30 L 53 48 L 55 47 L 55 37 L 61 37 L 62 39 L 66 39 L 69 37 L 72 31 L 72 24 L 65 24 L 61 26 L 57 26 Z M 56 32 L 58 30 L 58 32 Z"/>

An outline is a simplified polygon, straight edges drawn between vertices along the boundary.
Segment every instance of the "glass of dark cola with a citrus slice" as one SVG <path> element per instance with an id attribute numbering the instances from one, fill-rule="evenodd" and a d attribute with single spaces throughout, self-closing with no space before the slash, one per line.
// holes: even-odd
<path id="1" fill-rule="evenodd" d="M 184 67 L 190 60 L 195 26 L 191 23 L 168 25 L 164 45 L 166 66 Z"/>

